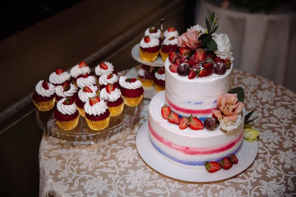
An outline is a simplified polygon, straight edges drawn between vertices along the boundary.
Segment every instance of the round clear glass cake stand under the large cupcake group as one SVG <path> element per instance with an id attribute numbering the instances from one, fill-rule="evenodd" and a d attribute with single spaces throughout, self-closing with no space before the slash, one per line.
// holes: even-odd
<path id="1" fill-rule="evenodd" d="M 130 107 L 124 105 L 122 114 L 116 117 L 111 117 L 109 126 L 101 131 L 91 130 L 85 121 L 85 118 L 79 117 L 78 126 L 69 131 L 60 130 L 53 119 L 53 110 L 41 112 L 36 110 L 36 120 L 40 129 L 58 139 L 74 141 L 78 144 L 94 144 L 104 141 L 112 135 L 124 131 L 140 115 L 140 106 Z"/>

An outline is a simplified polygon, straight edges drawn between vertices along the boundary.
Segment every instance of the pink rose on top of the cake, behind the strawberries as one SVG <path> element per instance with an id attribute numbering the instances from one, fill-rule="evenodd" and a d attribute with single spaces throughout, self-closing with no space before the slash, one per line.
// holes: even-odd
<path id="1" fill-rule="evenodd" d="M 197 49 L 202 45 L 201 41 L 198 41 L 199 31 L 188 30 L 186 33 L 178 36 L 178 45 L 189 49 Z"/>

